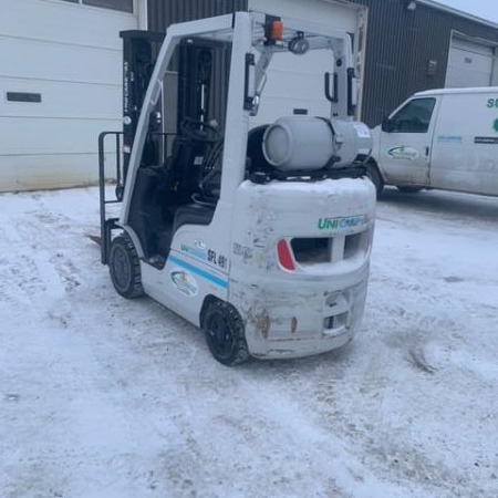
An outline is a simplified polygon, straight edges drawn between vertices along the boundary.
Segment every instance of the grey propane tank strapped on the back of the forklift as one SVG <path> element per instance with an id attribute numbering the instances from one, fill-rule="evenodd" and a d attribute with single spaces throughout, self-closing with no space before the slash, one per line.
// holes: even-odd
<path id="1" fill-rule="evenodd" d="M 360 122 L 308 116 L 280 117 L 263 135 L 263 154 L 269 164 L 284 172 L 349 166 L 372 152 L 372 135 Z"/>

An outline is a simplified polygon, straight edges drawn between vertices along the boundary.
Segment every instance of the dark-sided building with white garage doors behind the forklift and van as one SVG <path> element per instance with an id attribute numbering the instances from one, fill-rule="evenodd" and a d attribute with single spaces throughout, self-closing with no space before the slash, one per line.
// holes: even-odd
<path id="1" fill-rule="evenodd" d="M 2 8 L 0 191 L 96 180 L 98 133 L 122 127 L 121 30 L 164 32 L 234 9 L 344 28 L 354 35 L 360 116 L 371 126 L 416 91 L 498 83 L 498 25 L 433 0 L 3 0 Z"/>

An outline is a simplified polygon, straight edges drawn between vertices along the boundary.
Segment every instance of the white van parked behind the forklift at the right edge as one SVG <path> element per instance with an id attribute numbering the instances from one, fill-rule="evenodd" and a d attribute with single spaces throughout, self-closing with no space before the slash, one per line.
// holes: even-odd
<path id="1" fill-rule="evenodd" d="M 498 196 L 498 86 L 419 92 L 373 129 L 367 173 L 414 193 Z"/>

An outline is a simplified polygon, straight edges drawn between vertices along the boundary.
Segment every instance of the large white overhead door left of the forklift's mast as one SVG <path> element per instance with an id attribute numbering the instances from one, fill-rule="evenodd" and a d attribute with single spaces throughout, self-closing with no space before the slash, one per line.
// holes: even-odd
<path id="1" fill-rule="evenodd" d="M 121 129 L 120 31 L 137 28 L 114 7 L 133 2 L 1 3 L 0 190 L 95 181 L 98 134 Z"/>

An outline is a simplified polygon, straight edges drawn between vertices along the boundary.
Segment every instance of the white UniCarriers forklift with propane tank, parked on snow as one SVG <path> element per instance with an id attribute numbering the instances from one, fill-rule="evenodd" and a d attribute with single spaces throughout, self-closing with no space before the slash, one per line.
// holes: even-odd
<path id="1" fill-rule="evenodd" d="M 371 134 L 353 121 L 347 33 L 236 12 L 170 25 L 154 64 L 152 41 L 163 37 L 126 37 L 138 44 L 135 64 L 125 50 L 124 132 L 100 137 L 102 262 L 116 291 L 145 293 L 200 326 L 226 365 L 349 342 L 365 304 L 375 188 L 365 176 Z M 293 54 L 299 71 L 315 50 L 333 61 L 319 75 L 325 115 L 299 112 L 251 129 L 272 60 Z M 214 116 L 212 72 L 224 58 L 226 114 Z M 174 133 L 159 131 L 168 105 Z M 107 217 L 111 203 L 122 204 L 118 218 Z"/>

